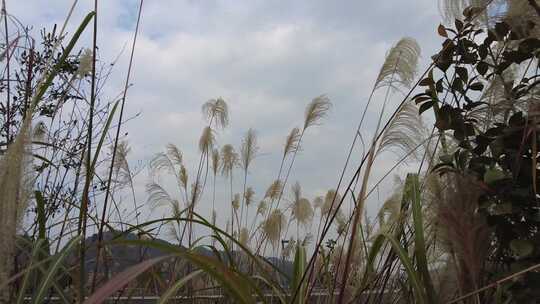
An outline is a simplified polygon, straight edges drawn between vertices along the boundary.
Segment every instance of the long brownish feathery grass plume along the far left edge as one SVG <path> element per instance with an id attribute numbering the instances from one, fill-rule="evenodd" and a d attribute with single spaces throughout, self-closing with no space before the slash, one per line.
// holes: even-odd
<path id="1" fill-rule="evenodd" d="M 15 141 L 0 159 L 0 282 L 6 282 L 10 276 L 15 236 L 31 197 L 30 121 L 29 118 L 24 120 Z M 0 300 L 3 295 L 0 291 Z"/>

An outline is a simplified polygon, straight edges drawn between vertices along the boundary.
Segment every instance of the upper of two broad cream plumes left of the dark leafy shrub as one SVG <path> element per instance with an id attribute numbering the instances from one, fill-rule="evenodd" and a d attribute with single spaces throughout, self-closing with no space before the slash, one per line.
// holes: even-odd
<path id="1" fill-rule="evenodd" d="M 396 83 L 410 87 L 416 74 L 420 46 L 413 38 L 405 37 L 394 45 L 379 71 L 375 88 L 394 86 Z"/>

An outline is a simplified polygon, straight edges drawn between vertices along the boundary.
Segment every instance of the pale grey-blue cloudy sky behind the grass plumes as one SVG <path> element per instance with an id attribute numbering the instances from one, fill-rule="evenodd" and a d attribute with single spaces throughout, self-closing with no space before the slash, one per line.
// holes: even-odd
<path id="1" fill-rule="evenodd" d="M 6 4 L 37 35 L 43 27 L 61 24 L 72 2 L 6 0 Z M 105 91 L 115 96 L 125 81 L 139 2 L 109 0 L 99 5 L 100 61 L 112 62 L 119 56 Z M 79 1 L 69 33 L 92 7 L 93 1 Z M 425 69 L 442 42 L 436 34 L 440 22 L 433 0 L 146 0 L 126 104 L 127 116 L 138 116 L 122 129 L 132 148 L 130 164 L 141 169 L 135 179 L 137 199 L 146 200 L 150 177 L 144 166 L 167 143 L 183 151 L 193 175 L 205 126 L 200 108 L 209 99 L 223 97 L 231 123 L 217 132 L 218 145 L 230 143 L 239 149 L 243 134 L 249 128 L 257 131 L 260 152 L 248 185 L 254 187 L 258 201 L 276 178 L 285 136 L 302 124 L 305 106 L 321 94 L 330 98 L 333 108 L 322 125 L 305 135 L 289 185 L 300 181 L 310 199 L 324 194 L 337 184 L 387 50 L 400 38 L 413 37 L 422 47 L 419 70 Z M 79 46 L 90 46 L 89 39 L 86 33 Z M 380 109 L 377 101 L 381 97 L 375 99 L 362 129 L 366 138 L 373 132 Z M 359 158 L 356 150 L 351 168 L 358 165 Z M 383 155 L 373 175 L 382 176 L 394 161 L 393 155 Z M 406 170 L 396 173 L 403 175 Z M 239 180 L 235 181 L 236 191 L 241 189 Z M 175 193 L 170 179 L 164 177 L 160 182 Z M 224 179 L 218 179 L 220 223 L 229 210 L 228 199 L 221 199 L 229 197 L 226 185 Z M 390 178 L 370 197 L 371 215 L 391 193 L 391 185 Z M 198 208 L 209 214 L 208 195 Z M 168 212 L 148 206 L 145 214 L 159 217 Z"/>

